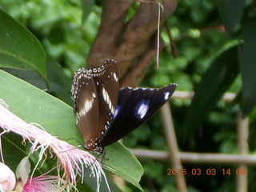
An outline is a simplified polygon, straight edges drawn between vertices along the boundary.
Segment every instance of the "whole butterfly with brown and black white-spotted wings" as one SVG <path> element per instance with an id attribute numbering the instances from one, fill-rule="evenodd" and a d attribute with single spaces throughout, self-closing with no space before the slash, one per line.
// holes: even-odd
<path id="1" fill-rule="evenodd" d="M 74 74 L 72 99 L 76 126 L 85 149 L 105 154 L 117 142 L 146 122 L 174 93 L 176 84 L 159 89 L 119 89 L 117 62 L 106 60 L 99 68 L 80 68 Z"/>

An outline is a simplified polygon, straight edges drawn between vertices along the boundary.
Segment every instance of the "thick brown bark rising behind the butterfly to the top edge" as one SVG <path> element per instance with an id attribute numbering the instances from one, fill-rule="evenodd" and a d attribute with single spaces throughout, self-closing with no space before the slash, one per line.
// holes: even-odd
<path id="1" fill-rule="evenodd" d="M 156 56 L 158 4 L 141 2 L 134 17 L 125 22 L 132 0 L 106 0 L 102 24 L 88 55 L 87 67 L 102 66 L 107 58 L 118 61 L 120 86 L 138 86 Z M 173 14 L 175 0 L 163 0 L 161 25 Z"/>

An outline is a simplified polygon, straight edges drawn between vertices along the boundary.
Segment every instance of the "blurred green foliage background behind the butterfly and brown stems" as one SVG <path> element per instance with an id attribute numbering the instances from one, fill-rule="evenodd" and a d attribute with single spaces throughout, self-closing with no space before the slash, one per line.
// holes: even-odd
<path id="1" fill-rule="evenodd" d="M 42 44 L 46 53 L 46 58 L 42 59 L 47 63 L 48 78 L 46 73 L 40 74 L 41 78 L 34 73 L 7 71 L 41 89 L 46 88 L 48 82 L 45 83 L 45 79 L 48 79 L 50 94 L 72 106 L 70 86 L 73 74 L 79 67 L 86 66 L 86 56 L 101 22 L 102 4 L 102 1 L 80 0 L 2 0 L 2 10 L 26 26 Z M 137 6 L 138 2 L 134 2 L 127 19 L 133 16 Z M 178 58 L 171 55 L 169 38 L 166 30 L 162 30 L 161 37 L 166 47 L 161 52 L 160 69 L 156 70 L 155 62 L 152 63 L 142 86 L 158 87 L 175 82 L 178 90 L 196 91 L 192 102 L 178 99 L 171 102 L 180 150 L 236 153 L 236 114 L 241 107 L 245 116 L 250 115 L 250 153 L 255 153 L 254 6 L 252 1 L 238 0 L 226 1 L 226 4 L 211 0 L 178 1 L 177 10 L 168 19 Z M 219 74 L 223 74 L 222 77 Z M 232 103 L 218 102 L 222 93 L 227 91 L 240 97 Z M 124 143 L 129 147 L 167 150 L 163 135 L 160 117 L 155 115 L 124 138 Z M 140 162 L 145 169 L 140 182 L 145 191 L 152 191 L 152 188 L 162 192 L 177 191 L 174 178 L 166 176 L 170 168 L 168 162 L 147 159 Z M 232 167 L 185 165 L 185 168 L 221 171 Z M 256 189 L 254 170 L 254 167 L 248 170 L 248 191 Z M 187 176 L 186 181 L 189 191 L 228 192 L 234 191 L 235 186 L 232 175 Z M 128 185 L 126 190 L 138 189 Z"/>

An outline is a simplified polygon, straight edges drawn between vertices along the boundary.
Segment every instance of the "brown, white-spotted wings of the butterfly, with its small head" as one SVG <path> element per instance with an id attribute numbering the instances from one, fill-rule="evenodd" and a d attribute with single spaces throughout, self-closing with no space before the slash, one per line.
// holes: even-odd
<path id="1" fill-rule="evenodd" d="M 85 148 L 100 154 L 104 138 L 118 102 L 118 66 L 107 60 L 100 68 L 80 69 L 72 86 L 76 125 L 85 140 Z"/>

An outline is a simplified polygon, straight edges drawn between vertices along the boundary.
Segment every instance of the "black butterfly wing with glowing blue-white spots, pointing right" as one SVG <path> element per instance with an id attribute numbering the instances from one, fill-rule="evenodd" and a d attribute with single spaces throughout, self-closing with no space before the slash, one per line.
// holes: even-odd
<path id="1" fill-rule="evenodd" d="M 102 146 L 118 141 L 146 122 L 169 100 L 176 87 L 176 84 L 170 84 L 160 89 L 124 87 L 119 90 L 114 120 Z"/>

